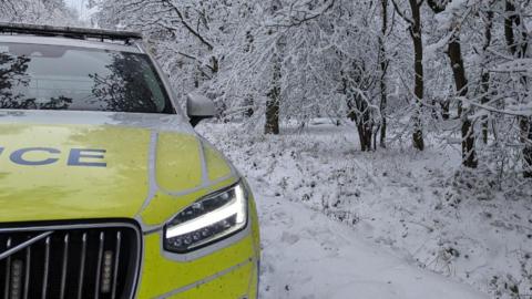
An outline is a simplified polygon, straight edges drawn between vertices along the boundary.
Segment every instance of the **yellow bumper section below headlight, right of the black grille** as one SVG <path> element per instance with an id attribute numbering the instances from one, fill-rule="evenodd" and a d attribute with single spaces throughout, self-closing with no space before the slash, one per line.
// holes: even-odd
<path id="1" fill-rule="evenodd" d="M 207 248 L 208 255 L 167 254 L 161 238 L 156 233 L 144 236 L 136 298 L 257 298 L 259 257 L 250 229 Z"/>

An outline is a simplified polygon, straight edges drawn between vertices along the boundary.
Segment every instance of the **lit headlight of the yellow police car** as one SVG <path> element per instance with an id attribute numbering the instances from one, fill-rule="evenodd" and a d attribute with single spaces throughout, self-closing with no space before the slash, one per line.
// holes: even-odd
<path id="1" fill-rule="evenodd" d="M 247 193 L 242 184 L 207 195 L 166 224 L 164 249 L 184 254 L 221 240 L 247 225 Z"/>

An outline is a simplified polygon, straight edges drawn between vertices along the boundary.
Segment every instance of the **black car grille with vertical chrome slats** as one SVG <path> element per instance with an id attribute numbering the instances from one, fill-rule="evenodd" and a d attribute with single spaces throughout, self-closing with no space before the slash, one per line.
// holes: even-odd
<path id="1" fill-rule="evenodd" d="M 0 227 L 0 298 L 132 298 L 140 251 L 129 224 Z"/>

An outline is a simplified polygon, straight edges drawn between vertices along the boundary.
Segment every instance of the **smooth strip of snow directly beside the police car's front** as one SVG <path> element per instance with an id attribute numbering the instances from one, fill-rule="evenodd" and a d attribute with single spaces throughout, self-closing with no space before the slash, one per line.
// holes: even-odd
<path id="1" fill-rule="evenodd" d="M 263 234 L 263 299 L 488 298 L 409 265 L 321 213 L 263 194 L 265 185 L 252 185 Z"/>

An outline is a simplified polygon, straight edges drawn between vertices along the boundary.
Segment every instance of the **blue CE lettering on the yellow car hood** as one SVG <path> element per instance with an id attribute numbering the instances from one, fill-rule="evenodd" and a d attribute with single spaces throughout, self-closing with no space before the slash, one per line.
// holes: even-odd
<path id="1" fill-rule="evenodd" d="M 72 167 L 106 167 L 105 150 L 71 148 L 66 165 Z M 60 163 L 61 151 L 53 147 L 24 147 L 7 151 L 0 146 L 0 157 L 23 166 L 44 166 Z"/>

